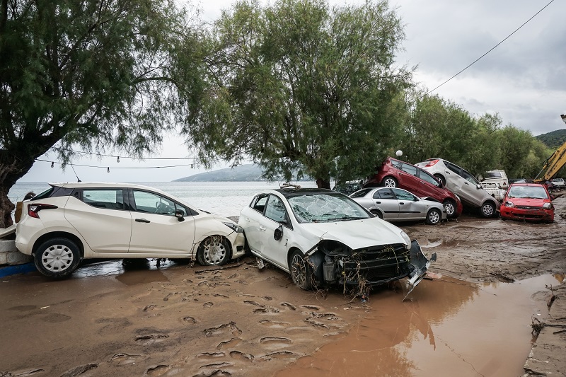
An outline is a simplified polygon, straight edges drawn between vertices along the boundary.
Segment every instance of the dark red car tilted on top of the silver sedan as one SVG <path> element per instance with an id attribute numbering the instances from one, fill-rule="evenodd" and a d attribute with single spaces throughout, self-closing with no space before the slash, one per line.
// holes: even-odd
<path id="1" fill-rule="evenodd" d="M 377 170 L 377 174 L 364 183 L 364 187 L 400 187 L 417 197 L 428 197 L 444 204 L 448 217 L 462 213 L 462 202 L 454 192 L 444 188 L 431 174 L 395 158 L 388 157 Z"/>

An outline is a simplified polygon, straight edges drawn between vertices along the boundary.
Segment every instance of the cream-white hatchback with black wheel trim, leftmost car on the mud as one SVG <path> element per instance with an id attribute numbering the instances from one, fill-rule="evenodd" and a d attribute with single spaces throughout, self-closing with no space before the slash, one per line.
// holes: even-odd
<path id="1" fill-rule="evenodd" d="M 244 255 L 242 228 L 151 187 L 51 183 L 24 202 L 16 247 L 47 277 L 67 277 L 81 259 L 190 258 L 222 265 Z"/>

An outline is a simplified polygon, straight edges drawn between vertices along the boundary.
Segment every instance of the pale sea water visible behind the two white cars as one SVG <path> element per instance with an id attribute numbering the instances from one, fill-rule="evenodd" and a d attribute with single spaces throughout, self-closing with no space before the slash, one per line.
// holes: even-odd
<path id="1" fill-rule="evenodd" d="M 250 204 L 254 195 L 262 190 L 279 188 L 280 182 L 135 182 L 137 185 L 154 187 L 191 204 L 195 209 L 219 214 L 238 216 L 243 207 Z M 316 187 L 316 182 L 295 182 L 301 187 Z M 27 192 L 40 194 L 50 188 L 47 182 L 18 182 L 13 185 L 8 198 L 19 202 Z"/>

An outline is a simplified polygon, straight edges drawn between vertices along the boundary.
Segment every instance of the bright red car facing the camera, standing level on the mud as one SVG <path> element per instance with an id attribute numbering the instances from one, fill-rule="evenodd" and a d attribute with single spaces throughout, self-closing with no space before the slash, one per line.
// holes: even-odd
<path id="1" fill-rule="evenodd" d="M 502 219 L 554 221 L 553 201 L 545 185 L 539 183 L 513 183 L 499 212 Z"/>

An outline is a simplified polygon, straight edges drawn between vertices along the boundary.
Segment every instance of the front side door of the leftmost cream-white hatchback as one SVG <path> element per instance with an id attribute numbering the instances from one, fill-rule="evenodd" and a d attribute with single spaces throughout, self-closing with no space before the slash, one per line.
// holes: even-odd
<path id="1" fill-rule="evenodd" d="M 130 190 L 129 200 L 133 206 L 129 253 L 158 256 L 191 252 L 195 241 L 191 209 L 147 190 Z M 183 221 L 179 221 L 175 211 L 181 211 Z"/>

